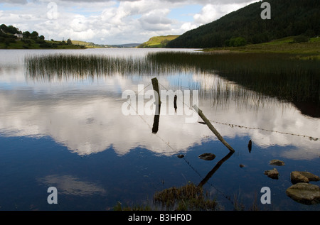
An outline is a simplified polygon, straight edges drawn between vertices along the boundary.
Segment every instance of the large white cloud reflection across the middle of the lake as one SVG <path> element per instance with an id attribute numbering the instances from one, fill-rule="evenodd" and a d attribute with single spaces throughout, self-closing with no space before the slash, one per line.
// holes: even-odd
<path id="1" fill-rule="evenodd" d="M 186 116 L 160 116 L 156 134 L 151 131 L 154 116 L 124 116 L 121 111 L 125 100 L 121 99 L 122 92 L 127 89 L 137 92 L 138 84 L 146 87 L 153 77 L 114 74 L 97 79 L 68 77 L 67 80 L 34 82 L 25 79 L 22 65 L 20 70 L 16 64 L 15 68 L 0 71 L 0 132 L 4 136 L 50 136 L 78 155 L 99 153 L 110 147 L 118 155 L 124 155 L 138 146 L 154 153 L 173 155 L 203 141 L 216 140 L 206 126 L 186 124 Z M 244 98 L 240 94 L 214 101 L 216 93 L 212 92 L 212 87 L 218 82 L 225 82 L 214 74 L 193 72 L 181 75 L 173 72 L 158 79 L 173 90 L 200 87 L 199 107 L 213 121 L 316 138 L 320 136 L 319 119 L 304 116 L 292 104 L 277 99 L 260 101 L 260 96 L 245 92 Z M 233 83 L 228 85 L 232 89 L 238 88 Z M 241 88 L 236 90 L 242 91 Z M 214 125 L 224 138 L 249 136 L 254 145 L 261 148 L 292 146 L 289 153 L 279 152 L 285 158 L 319 157 L 319 141 L 257 129 Z"/>

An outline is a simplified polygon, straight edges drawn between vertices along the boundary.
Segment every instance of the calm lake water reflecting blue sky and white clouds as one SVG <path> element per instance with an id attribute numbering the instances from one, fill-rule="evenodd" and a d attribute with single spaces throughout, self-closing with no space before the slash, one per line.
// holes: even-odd
<path id="1" fill-rule="evenodd" d="M 167 51 L 196 50 L 1 50 L 0 210 L 161 209 L 153 201 L 156 192 L 190 183 L 201 183 L 217 210 L 319 210 L 320 204 L 286 194 L 292 171 L 320 176 L 319 117 L 228 80 L 218 69 L 143 61 Z M 125 68 L 84 74 L 56 64 L 53 72 L 26 67 L 29 58 L 38 62 L 53 54 L 133 60 Z M 139 72 L 142 66 L 148 69 Z M 154 77 L 169 96 L 158 117 L 146 97 Z M 176 93 L 178 109 L 172 111 Z M 199 123 L 188 93 L 235 153 Z M 203 153 L 215 159 L 198 158 Z M 270 165 L 274 159 L 285 165 Z M 273 168 L 278 179 L 264 174 Z M 56 187 L 58 204 L 48 203 L 49 187 Z M 270 204 L 260 201 L 262 187 L 270 188 Z"/>

